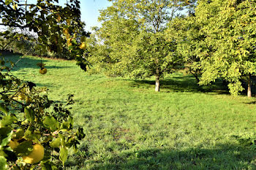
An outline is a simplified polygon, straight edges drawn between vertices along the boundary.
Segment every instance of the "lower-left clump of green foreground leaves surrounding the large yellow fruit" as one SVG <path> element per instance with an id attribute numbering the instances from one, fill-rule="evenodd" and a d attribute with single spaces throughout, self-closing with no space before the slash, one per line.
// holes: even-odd
<path id="1" fill-rule="evenodd" d="M 45 88 L 35 88 L 33 82 L 19 80 L 10 74 L 12 68 L 6 65 L 4 59 L 1 60 L 1 167 L 34 167 L 23 163 L 20 158 L 29 155 L 34 143 L 40 143 L 47 149 L 47 154 L 38 164 L 42 169 L 56 167 L 51 164 L 55 160 L 53 152 L 59 155 L 59 160 L 64 165 L 67 161 L 67 149 L 72 147 L 77 150 L 78 141 L 84 137 L 83 128 L 73 128 L 73 118 L 68 109 L 73 104 L 72 96 L 69 96 L 67 104 L 50 101 Z M 18 146 L 9 147 L 11 140 L 18 142 Z"/>

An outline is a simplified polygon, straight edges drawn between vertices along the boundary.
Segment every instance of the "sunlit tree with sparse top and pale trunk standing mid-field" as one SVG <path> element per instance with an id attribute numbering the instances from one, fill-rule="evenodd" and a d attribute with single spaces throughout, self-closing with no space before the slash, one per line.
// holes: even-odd
<path id="1" fill-rule="evenodd" d="M 184 1 L 129 0 L 113 1 L 102 10 L 102 28 L 97 31 L 97 60 L 115 76 L 156 77 L 173 72 L 180 63 L 175 53 L 176 43 L 167 42 L 167 22 L 183 9 Z M 94 55 L 92 56 L 94 57 Z"/>

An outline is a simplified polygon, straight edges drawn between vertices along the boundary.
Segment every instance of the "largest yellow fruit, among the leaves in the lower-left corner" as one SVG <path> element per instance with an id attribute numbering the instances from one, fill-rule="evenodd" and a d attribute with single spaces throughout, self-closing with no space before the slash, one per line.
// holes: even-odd
<path id="1" fill-rule="evenodd" d="M 38 163 L 44 158 L 45 149 L 42 144 L 34 144 L 33 150 L 29 155 L 23 156 L 23 161 L 25 163 Z"/>

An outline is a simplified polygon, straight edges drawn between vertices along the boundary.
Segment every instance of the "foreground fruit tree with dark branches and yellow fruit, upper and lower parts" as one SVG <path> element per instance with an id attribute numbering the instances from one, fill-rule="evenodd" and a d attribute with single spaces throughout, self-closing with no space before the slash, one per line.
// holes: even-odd
<path id="1" fill-rule="evenodd" d="M 0 0 L 0 25 L 36 34 L 40 50 L 60 52 L 68 45 L 69 53 L 86 70 L 84 42 L 77 38 L 83 28 L 78 0 L 64 7 L 57 0 Z M 10 34 L 1 32 L 1 37 Z M 30 39 L 17 34 L 17 39 Z M 70 41 L 70 39 L 72 39 Z M 68 42 L 68 43 L 67 43 Z M 50 101 L 45 88 L 24 82 L 11 72 L 15 63 L 0 60 L 0 169 L 60 169 L 67 161 L 68 148 L 78 149 L 83 128 L 73 127 L 69 105 Z M 47 70 L 42 65 L 39 73 Z"/>

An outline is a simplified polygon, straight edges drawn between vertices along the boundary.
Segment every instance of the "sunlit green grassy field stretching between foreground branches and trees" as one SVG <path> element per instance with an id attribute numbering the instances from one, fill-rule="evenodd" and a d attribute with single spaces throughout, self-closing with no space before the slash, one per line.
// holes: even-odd
<path id="1" fill-rule="evenodd" d="M 238 142 L 255 134 L 255 98 L 230 96 L 221 82 L 197 88 L 181 74 L 156 93 L 154 80 L 89 75 L 74 61 L 44 58 L 42 75 L 38 62 L 23 58 L 13 74 L 48 87 L 50 99 L 74 94 L 75 123 L 85 128 L 67 169 L 256 169 L 255 146 Z"/>

